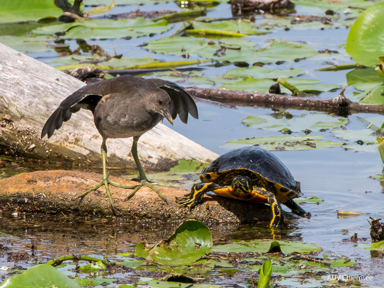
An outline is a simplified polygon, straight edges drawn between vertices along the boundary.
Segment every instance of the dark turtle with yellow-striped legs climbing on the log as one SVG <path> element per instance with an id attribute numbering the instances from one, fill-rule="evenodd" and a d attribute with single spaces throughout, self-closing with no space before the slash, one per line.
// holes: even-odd
<path id="1" fill-rule="evenodd" d="M 292 200 L 302 195 L 300 182 L 282 161 L 263 148 L 244 147 L 221 155 L 202 171 L 200 180 L 190 193 L 177 198 L 179 204 L 192 208 L 206 192 L 212 191 L 224 197 L 268 203 L 273 227 L 283 224 L 280 203 L 301 217 L 311 215 Z"/>

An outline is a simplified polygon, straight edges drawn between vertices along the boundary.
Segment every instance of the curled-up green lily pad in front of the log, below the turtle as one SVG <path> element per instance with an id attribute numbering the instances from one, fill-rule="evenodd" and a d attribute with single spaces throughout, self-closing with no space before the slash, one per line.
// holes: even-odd
<path id="1" fill-rule="evenodd" d="M 209 253 L 212 247 L 211 231 L 203 223 L 186 220 L 167 239 L 159 242 L 148 251 L 147 261 L 163 265 L 188 265 Z M 136 246 L 136 255 L 145 256 L 146 245 L 141 242 Z"/>

